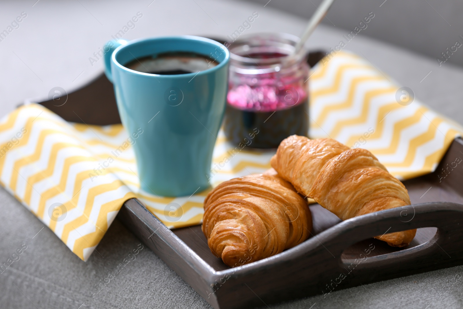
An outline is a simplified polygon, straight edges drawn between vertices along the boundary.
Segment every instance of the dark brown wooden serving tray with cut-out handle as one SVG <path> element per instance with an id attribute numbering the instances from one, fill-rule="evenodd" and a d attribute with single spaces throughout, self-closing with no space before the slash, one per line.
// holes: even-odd
<path id="1" fill-rule="evenodd" d="M 309 63 L 322 56 L 311 53 Z M 104 75 L 67 95 L 67 100 L 63 106 L 53 101 L 41 104 L 69 121 L 97 125 L 120 121 L 113 87 Z M 95 113 L 95 108 L 103 112 Z M 437 171 L 457 157 L 463 158 L 462 139 L 453 141 Z M 211 253 L 200 226 L 169 230 L 136 199 L 125 202 L 118 218 L 214 308 L 264 306 L 463 264 L 459 248 L 463 244 L 463 176 L 457 169 L 447 174 L 439 179 L 445 174 L 434 172 L 405 181 L 411 206 L 342 222 L 318 204 L 311 205 L 311 238 L 235 268 Z M 405 248 L 372 238 L 412 228 L 418 228 L 416 237 Z"/>

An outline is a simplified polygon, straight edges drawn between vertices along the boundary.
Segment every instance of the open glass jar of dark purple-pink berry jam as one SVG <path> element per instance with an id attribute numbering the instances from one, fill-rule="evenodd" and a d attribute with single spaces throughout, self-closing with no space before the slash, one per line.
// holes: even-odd
<path id="1" fill-rule="evenodd" d="M 304 49 L 292 55 L 298 41 L 290 34 L 258 33 L 228 47 L 224 131 L 232 143 L 276 148 L 290 135 L 307 136 L 309 66 Z"/>

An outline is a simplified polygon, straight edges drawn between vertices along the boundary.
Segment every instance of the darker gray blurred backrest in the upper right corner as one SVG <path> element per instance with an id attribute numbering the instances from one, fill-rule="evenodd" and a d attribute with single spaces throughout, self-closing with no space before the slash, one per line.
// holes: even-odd
<path id="1" fill-rule="evenodd" d="M 321 0 L 253 0 L 270 7 L 309 18 Z M 463 44 L 463 1 L 457 0 L 337 0 L 323 20 L 325 25 L 352 31 L 369 12 L 379 13 L 368 25 L 367 36 L 378 38 L 438 58 L 455 45 Z M 463 46 L 462 46 L 463 47 Z M 437 60 L 435 60 L 437 62 Z M 463 65 L 463 50 L 448 62 Z M 444 64 L 443 64 L 444 65 Z"/>

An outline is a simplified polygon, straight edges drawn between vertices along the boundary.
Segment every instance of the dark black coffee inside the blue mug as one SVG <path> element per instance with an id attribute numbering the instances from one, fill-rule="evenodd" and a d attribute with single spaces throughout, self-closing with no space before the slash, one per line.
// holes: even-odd
<path id="1" fill-rule="evenodd" d="M 169 52 L 135 59 L 126 68 L 150 74 L 176 75 L 197 73 L 218 65 L 214 59 L 189 52 Z"/>

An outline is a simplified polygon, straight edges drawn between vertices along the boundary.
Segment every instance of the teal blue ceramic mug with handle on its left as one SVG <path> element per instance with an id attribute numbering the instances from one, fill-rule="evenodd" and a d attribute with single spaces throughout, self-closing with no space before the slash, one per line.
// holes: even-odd
<path id="1" fill-rule="evenodd" d="M 180 36 L 110 41 L 105 51 L 105 73 L 113 82 L 122 124 L 129 136 L 138 135 L 133 149 L 141 188 L 162 196 L 206 189 L 225 109 L 228 50 L 211 39 Z M 168 52 L 196 53 L 218 64 L 177 75 L 142 73 L 124 66 Z"/>

